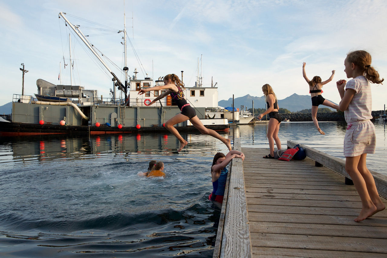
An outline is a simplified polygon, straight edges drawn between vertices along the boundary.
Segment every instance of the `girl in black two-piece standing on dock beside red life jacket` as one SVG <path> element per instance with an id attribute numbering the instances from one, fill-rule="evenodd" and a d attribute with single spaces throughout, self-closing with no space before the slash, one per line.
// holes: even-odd
<path id="1" fill-rule="evenodd" d="M 281 141 L 278 138 L 279 124 L 282 121 L 281 115 L 278 113 L 279 106 L 277 102 L 276 94 L 269 84 L 262 86 L 262 91 L 265 95 L 265 101 L 267 104 L 267 110 L 258 116 L 258 119 L 262 119 L 265 114 L 269 114 L 269 124 L 267 128 L 267 140 L 269 140 L 270 154 L 266 155 L 264 159 L 274 159 L 274 141 L 276 142 L 277 149 L 281 149 Z"/>

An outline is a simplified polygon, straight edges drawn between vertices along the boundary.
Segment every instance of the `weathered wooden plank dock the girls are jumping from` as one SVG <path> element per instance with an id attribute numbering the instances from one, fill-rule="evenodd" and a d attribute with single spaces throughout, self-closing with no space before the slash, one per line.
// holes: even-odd
<path id="1" fill-rule="evenodd" d="M 387 257 L 387 209 L 354 222 L 361 201 L 343 176 L 308 157 L 286 162 L 263 159 L 268 149 L 241 151 L 246 158 L 241 168 L 240 159 L 231 164 L 214 257 Z M 327 166 L 342 169 L 327 156 Z M 244 181 L 233 183 L 235 176 Z M 374 177 L 383 191 L 387 177 Z"/>

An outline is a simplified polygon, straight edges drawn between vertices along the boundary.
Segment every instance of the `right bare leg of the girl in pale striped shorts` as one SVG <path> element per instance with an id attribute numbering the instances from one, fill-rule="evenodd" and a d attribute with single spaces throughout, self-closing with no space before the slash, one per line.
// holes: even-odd
<path id="1" fill-rule="evenodd" d="M 368 216 L 368 217 L 371 217 L 373 214 L 380 212 L 381 210 L 384 210 L 385 205 L 382 202 L 382 200 L 380 199 L 380 196 L 378 194 L 378 190 L 376 189 L 375 180 L 373 179 L 373 176 L 370 173 L 370 171 L 367 169 L 366 157 L 367 157 L 367 154 L 362 154 L 360 156 L 358 170 L 359 170 L 361 176 L 364 178 L 364 181 L 365 181 L 366 186 L 367 186 L 368 195 L 370 195 L 372 203 L 376 206 L 376 211 L 373 212 L 370 216 Z"/>

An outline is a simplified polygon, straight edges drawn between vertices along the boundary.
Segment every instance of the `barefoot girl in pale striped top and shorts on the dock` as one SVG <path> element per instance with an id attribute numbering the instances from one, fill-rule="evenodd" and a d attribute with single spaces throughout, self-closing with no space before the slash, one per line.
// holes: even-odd
<path id="1" fill-rule="evenodd" d="M 367 169 L 367 154 L 375 153 L 375 126 L 372 118 L 370 83 L 381 84 L 384 79 L 371 66 L 371 55 L 364 50 L 350 52 L 344 60 L 347 78 L 336 82 L 341 101 L 339 109 L 344 111 L 348 124 L 344 137 L 345 170 L 351 176 L 361 199 L 362 208 L 356 222 L 384 210 L 372 174 Z M 345 89 L 344 89 L 345 87 Z"/>

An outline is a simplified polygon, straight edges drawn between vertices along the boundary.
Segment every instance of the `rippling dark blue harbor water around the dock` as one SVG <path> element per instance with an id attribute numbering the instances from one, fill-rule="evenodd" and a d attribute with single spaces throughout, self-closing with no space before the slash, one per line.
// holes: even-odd
<path id="1" fill-rule="evenodd" d="M 282 123 L 280 138 L 342 157 L 344 123 Z M 369 168 L 385 172 L 384 123 Z M 233 126 L 228 138 L 268 148 L 266 124 Z M 0 139 L 0 255 L 13 257 L 212 257 L 219 207 L 207 200 L 210 166 L 225 146 L 206 135 Z M 260 157 L 258 157 L 260 158 Z M 166 179 L 140 178 L 151 159 Z"/>

